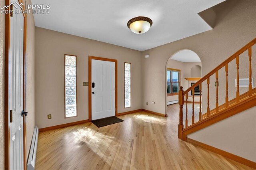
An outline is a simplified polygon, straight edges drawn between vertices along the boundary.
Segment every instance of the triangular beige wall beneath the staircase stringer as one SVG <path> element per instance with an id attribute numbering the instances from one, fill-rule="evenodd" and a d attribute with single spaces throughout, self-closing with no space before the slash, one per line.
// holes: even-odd
<path id="1" fill-rule="evenodd" d="M 256 162 L 256 107 L 224 119 L 188 138 Z"/>

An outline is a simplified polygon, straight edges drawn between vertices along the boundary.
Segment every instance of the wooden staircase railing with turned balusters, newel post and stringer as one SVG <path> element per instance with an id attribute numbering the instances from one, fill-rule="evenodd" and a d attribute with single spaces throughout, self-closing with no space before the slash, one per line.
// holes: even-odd
<path id="1" fill-rule="evenodd" d="M 186 91 L 183 91 L 183 87 L 180 87 L 179 91 L 179 105 L 180 105 L 180 119 L 179 119 L 179 125 L 178 125 L 178 138 L 182 140 L 187 140 L 187 135 L 191 134 L 193 132 L 196 132 L 197 130 L 200 130 L 202 128 L 208 127 L 216 122 L 222 121 L 223 119 L 226 119 L 228 117 L 231 117 L 232 115 L 235 115 L 237 113 L 240 113 L 246 109 L 249 109 L 251 107 L 256 106 L 256 88 L 252 89 L 252 46 L 256 44 L 256 38 L 246 44 L 244 47 L 239 49 L 236 53 L 231 55 L 228 59 L 226 59 L 224 62 L 222 62 L 220 65 L 218 65 L 215 69 L 210 71 L 207 75 L 202 77 L 199 81 L 197 81 L 193 86 L 189 87 Z M 248 85 L 248 91 L 242 95 L 240 95 L 239 92 L 239 56 L 244 55 L 244 53 L 247 53 L 248 55 L 248 78 L 249 78 L 249 85 Z M 228 91 L 228 63 L 231 61 L 236 61 L 236 91 L 233 91 L 233 93 L 236 93 L 236 97 L 232 100 L 229 99 L 228 94 L 230 93 Z M 218 78 L 219 78 L 219 70 L 224 68 L 225 69 L 225 77 L 226 77 L 226 90 L 222 91 L 222 94 L 225 94 L 225 103 L 223 105 L 219 105 L 218 101 L 218 95 L 219 95 L 219 89 L 218 89 Z M 215 76 L 214 76 L 215 74 Z M 216 82 L 216 99 L 215 101 L 210 101 L 210 77 L 214 76 L 215 82 Z M 202 114 L 202 83 L 206 84 L 206 93 L 207 95 L 207 111 L 206 113 Z M 200 101 L 199 101 L 199 120 L 196 120 L 195 122 L 195 116 L 194 116 L 194 89 L 199 85 L 199 91 L 200 91 Z M 192 113 L 188 113 L 188 93 L 192 91 Z M 232 93 L 232 92 L 231 92 Z M 215 103 L 215 108 L 210 110 L 210 102 Z M 184 106 L 185 103 L 185 106 Z M 183 107 L 184 109 L 183 111 Z M 184 112 L 186 114 L 184 114 Z M 183 114 L 185 115 L 185 125 L 183 125 Z M 191 116 L 191 125 L 188 125 L 188 114 L 192 114 Z"/>

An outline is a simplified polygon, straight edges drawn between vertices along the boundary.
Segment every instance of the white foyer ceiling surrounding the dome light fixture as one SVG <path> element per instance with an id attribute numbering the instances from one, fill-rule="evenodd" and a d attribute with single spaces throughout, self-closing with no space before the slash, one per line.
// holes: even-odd
<path id="1" fill-rule="evenodd" d="M 49 14 L 34 14 L 38 27 L 144 51 L 212 28 L 198 15 L 224 0 L 32 0 L 50 4 Z M 153 25 L 134 34 L 127 22 L 147 16 Z"/>

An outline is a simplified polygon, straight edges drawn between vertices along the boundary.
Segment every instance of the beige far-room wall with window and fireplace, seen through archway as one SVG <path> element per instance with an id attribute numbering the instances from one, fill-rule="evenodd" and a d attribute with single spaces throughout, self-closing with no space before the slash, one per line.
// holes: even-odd
<path id="1" fill-rule="evenodd" d="M 201 65 L 201 63 L 200 62 L 181 62 L 174 59 L 169 59 L 167 63 L 167 68 L 180 69 L 180 86 L 184 87 L 184 90 L 186 90 L 188 89 L 188 87 L 190 87 L 189 85 L 190 83 L 193 83 L 196 81 L 187 81 L 186 79 L 184 79 L 184 77 L 192 77 L 191 69 L 194 66 L 198 66 L 198 65 Z M 178 95 L 167 96 L 167 102 L 175 101 L 175 100 L 178 100 Z M 197 97 L 195 97 L 195 101 L 197 101 Z"/>

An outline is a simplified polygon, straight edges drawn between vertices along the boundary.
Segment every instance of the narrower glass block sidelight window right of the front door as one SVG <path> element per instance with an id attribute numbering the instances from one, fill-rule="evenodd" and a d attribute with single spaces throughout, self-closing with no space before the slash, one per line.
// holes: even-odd
<path id="1" fill-rule="evenodd" d="M 131 63 L 124 63 L 124 108 L 131 107 Z"/>

